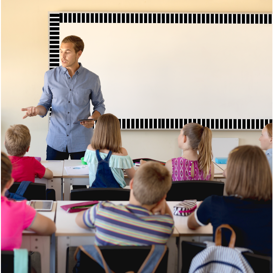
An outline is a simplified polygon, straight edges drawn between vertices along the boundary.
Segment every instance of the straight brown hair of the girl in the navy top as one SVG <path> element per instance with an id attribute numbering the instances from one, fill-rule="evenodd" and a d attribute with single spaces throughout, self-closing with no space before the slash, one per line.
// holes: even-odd
<path id="1" fill-rule="evenodd" d="M 232 150 L 227 161 L 227 194 L 254 200 L 272 199 L 272 175 L 260 147 L 245 145 Z"/>

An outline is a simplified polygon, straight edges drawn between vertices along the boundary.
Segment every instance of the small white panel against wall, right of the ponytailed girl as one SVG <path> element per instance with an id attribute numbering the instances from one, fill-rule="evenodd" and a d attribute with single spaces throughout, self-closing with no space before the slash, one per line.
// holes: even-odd
<path id="1" fill-rule="evenodd" d="M 216 157 L 228 157 L 231 150 L 239 146 L 239 139 L 235 137 L 212 138 L 213 161 Z"/>

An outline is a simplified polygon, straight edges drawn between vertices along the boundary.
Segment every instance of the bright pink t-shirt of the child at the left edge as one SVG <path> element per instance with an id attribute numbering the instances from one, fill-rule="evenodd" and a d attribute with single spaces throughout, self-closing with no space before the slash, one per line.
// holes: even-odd
<path id="1" fill-rule="evenodd" d="M 22 231 L 29 227 L 36 211 L 26 201 L 16 202 L 1 196 L 1 250 L 20 248 Z"/>

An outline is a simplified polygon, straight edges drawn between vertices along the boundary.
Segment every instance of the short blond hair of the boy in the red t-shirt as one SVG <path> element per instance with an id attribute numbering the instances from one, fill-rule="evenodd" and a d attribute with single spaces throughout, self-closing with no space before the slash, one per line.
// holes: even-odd
<path id="1" fill-rule="evenodd" d="M 29 128 L 22 124 L 10 126 L 5 133 L 5 147 L 11 156 L 22 157 L 30 145 Z"/>

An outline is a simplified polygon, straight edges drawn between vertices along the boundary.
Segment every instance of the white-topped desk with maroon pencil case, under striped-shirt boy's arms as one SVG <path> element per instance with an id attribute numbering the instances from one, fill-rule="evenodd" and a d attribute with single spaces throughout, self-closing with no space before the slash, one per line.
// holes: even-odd
<path id="1" fill-rule="evenodd" d="M 56 210 L 56 233 L 57 240 L 57 259 L 58 273 L 66 271 L 66 249 L 72 246 L 94 244 L 95 231 L 79 227 L 76 222 L 78 213 L 67 213 L 61 208 L 63 205 L 75 204 L 85 201 L 58 201 Z M 128 204 L 129 201 L 112 201 L 114 204 Z M 177 245 L 176 238 L 179 236 L 177 229 L 174 229 L 167 246 L 169 248 L 168 273 L 173 273 L 177 264 Z"/>

